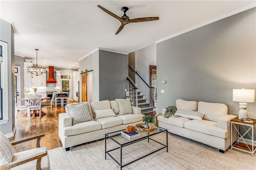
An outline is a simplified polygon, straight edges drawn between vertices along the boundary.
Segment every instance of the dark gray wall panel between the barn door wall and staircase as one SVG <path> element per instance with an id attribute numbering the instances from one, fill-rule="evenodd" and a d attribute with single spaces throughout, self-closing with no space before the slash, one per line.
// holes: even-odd
<path id="1" fill-rule="evenodd" d="M 128 55 L 99 50 L 100 101 L 125 99 Z"/>

